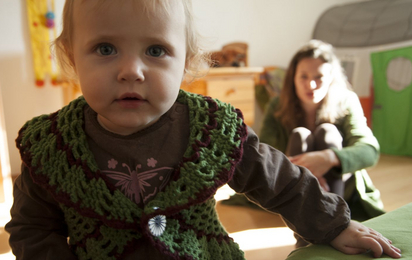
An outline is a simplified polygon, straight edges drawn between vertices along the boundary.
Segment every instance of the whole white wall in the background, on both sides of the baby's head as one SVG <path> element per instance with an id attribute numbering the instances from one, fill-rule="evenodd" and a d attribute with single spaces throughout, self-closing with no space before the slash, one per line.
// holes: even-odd
<path id="1" fill-rule="evenodd" d="M 249 44 L 250 66 L 287 66 L 310 39 L 319 15 L 331 6 L 361 0 L 193 0 L 210 50 L 233 41 Z M 63 104 L 58 87 L 34 85 L 26 1 L 0 0 L 0 87 L 11 172 L 20 172 L 14 139 L 25 121 Z M 55 0 L 59 16 L 64 0 Z M 59 24 L 59 17 L 57 24 Z M 0 102 L 1 103 L 1 102 Z"/>

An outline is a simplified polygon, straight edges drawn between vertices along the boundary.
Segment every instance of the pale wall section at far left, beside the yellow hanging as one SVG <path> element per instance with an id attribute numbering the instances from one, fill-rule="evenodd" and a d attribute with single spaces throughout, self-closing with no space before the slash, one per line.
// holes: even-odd
<path id="1" fill-rule="evenodd" d="M 62 106 L 59 87 L 34 84 L 26 1 L 0 0 L 0 88 L 12 174 L 20 173 L 15 138 L 30 118 Z"/>

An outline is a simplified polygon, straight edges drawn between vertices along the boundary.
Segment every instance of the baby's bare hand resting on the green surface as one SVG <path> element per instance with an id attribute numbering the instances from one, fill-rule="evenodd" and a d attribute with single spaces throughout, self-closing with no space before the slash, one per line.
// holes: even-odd
<path id="1" fill-rule="evenodd" d="M 374 257 L 380 257 L 383 253 L 392 258 L 401 257 L 401 250 L 394 247 L 392 241 L 355 221 L 351 221 L 348 228 L 342 231 L 330 244 L 349 255 L 362 254 L 370 250 Z"/>

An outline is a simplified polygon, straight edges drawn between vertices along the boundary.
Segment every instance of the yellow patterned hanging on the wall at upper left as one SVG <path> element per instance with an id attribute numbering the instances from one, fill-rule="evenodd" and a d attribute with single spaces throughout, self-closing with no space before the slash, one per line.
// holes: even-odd
<path id="1" fill-rule="evenodd" d="M 50 50 L 56 39 L 54 0 L 27 0 L 27 15 L 36 86 L 44 86 L 47 79 L 57 85 L 58 68 Z"/>

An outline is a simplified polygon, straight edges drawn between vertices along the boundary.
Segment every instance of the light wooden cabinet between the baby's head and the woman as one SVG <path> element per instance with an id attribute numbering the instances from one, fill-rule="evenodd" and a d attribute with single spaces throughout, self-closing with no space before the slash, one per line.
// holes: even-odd
<path id="1" fill-rule="evenodd" d="M 184 80 L 181 88 L 205 96 L 217 98 L 239 108 L 249 126 L 255 120 L 255 84 L 261 67 L 211 68 L 207 75 L 194 80 Z"/>

